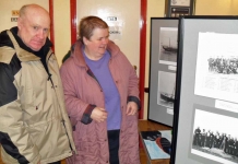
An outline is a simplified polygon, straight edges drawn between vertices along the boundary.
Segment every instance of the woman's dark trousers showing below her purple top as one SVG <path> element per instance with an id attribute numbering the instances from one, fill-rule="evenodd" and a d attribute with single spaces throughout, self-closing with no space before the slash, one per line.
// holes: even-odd
<path id="1" fill-rule="evenodd" d="M 120 130 L 108 130 L 107 136 L 109 144 L 110 164 L 119 164 L 118 150 Z"/>

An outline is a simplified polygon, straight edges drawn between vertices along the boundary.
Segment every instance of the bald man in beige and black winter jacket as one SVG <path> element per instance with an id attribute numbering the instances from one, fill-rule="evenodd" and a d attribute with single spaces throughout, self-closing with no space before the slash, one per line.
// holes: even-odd
<path id="1" fill-rule="evenodd" d="M 75 151 L 49 26 L 48 12 L 27 4 L 17 27 L 0 33 L 0 148 L 7 164 L 58 164 Z"/>

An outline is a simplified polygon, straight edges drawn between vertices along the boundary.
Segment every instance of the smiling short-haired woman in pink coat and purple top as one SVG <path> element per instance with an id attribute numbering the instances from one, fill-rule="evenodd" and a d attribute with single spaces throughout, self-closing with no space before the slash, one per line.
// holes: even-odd
<path id="1" fill-rule="evenodd" d="M 79 31 L 60 69 L 78 150 L 68 163 L 140 164 L 135 70 L 102 19 L 82 19 Z"/>

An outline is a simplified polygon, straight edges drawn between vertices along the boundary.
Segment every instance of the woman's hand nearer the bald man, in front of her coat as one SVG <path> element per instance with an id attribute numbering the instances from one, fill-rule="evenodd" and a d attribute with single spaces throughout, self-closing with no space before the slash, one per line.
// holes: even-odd
<path id="1" fill-rule="evenodd" d="M 107 112 L 105 108 L 95 107 L 91 114 L 91 118 L 97 122 L 105 121 L 107 119 Z"/>

